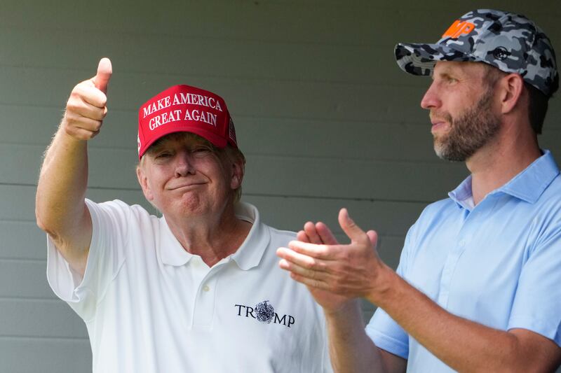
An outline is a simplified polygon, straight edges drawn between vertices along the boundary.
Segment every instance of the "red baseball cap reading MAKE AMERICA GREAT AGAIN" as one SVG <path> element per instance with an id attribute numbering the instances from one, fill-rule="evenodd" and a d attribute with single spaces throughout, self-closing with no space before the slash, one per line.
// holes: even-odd
<path id="1" fill-rule="evenodd" d="M 238 147 L 236 130 L 222 97 L 189 85 L 174 85 L 138 111 L 138 158 L 154 141 L 173 132 L 192 132 L 218 148 Z"/>

